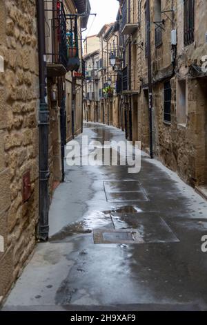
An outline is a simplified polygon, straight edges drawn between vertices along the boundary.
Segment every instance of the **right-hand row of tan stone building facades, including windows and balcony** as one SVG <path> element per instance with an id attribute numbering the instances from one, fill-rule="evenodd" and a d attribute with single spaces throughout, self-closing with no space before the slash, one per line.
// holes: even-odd
<path id="1" fill-rule="evenodd" d="M 206 1 L 119 1 L 126 137 L 206 192 Z M 147 6 L 150 3 L 148 25 Z M 190 8 L 190 9 L 188 9 Z M 150 26 L 150 59 L 148 55 Z M 152 82 L 149 118 L 148 64 Z M 152 137 L 150 137 L 152 132 Z M 205 195 L 205 194 L 204 194 Z"/>

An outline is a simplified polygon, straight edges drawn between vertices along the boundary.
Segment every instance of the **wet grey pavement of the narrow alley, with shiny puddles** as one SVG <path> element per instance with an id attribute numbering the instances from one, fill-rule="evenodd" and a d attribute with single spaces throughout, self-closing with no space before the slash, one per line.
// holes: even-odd
<path id="1" fill-rule="evenodd" d="M 101 124 L 83 134 L 124 140 Z M 37 245 L 4 310 L 207 310 L 203 235 L 206 201 L 146 154 L 139 174 L 66 164 L 50 241 Z"/>

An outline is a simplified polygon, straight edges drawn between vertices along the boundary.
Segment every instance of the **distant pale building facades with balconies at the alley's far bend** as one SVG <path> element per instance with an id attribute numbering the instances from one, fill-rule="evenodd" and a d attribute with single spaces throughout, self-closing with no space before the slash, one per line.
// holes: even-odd
<path id="1" fill-rule="evenodd" d="M 99 49 L 84 56 L 86 60 L 84 119 L 120 126 L 121 106 L 117 96 L 117 59 L 119 33 L 117 22 L 106 24 L 97 35 Z M 111 58 L 115 65 L 112 67 Z"/>

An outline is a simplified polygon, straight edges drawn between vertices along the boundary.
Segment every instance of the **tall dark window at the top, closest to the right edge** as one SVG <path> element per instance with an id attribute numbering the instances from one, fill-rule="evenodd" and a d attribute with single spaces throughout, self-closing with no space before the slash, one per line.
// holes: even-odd
<path id="1" fill-rule="evenodd" d="M 195 39 L 195 0 L 184 0 L 184 44 L 192 44 Z"/>

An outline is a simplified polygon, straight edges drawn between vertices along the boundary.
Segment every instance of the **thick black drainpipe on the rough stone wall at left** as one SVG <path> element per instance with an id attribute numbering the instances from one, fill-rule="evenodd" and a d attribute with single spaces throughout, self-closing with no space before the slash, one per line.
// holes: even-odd
<path id="1" fill-rule="evenodd" d="M 48 167 L 48 131 L 49 111 L 47 97 L 47 73 L 46 73 L 46 41 L 45 41 L 45 17 L 44 1 L 37 0 L 37 25 L 39 46 L 39 224 L 38 239 L 47 241 L 49 235 L 48 212 L 49 191 L 48 180 L 50 171 Z"/>

